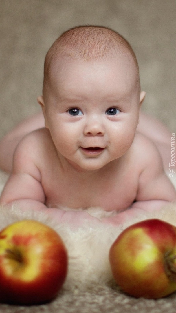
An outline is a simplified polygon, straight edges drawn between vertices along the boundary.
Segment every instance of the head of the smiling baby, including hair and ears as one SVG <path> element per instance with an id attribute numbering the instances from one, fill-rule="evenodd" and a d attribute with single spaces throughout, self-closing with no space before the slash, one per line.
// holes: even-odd
<path id="1" fill-rule="evenodd" d="M 138 62 L 113 30 L 80 26 L 49 49 L 38 97 L 59 156 L 81 169 L 103 167 L 130 148 L 138 125 Z"/>

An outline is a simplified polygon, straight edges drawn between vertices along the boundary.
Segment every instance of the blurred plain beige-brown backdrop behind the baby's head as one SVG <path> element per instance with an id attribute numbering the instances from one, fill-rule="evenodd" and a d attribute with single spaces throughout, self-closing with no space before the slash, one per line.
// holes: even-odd
<path id="1" fill-rule="evenodd" d="M 0 0 L 0 137 L 40 110 L 44 57 L 68 28 L 121 33 L 136 53 L 143 111 L 176 131 L 175 0 Z"/>

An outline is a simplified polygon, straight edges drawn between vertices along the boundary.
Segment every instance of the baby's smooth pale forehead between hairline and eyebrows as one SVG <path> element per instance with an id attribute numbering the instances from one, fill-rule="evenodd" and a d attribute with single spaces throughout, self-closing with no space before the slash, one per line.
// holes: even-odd
<path id="1" fill-rule="evenodd" d="M 87 95 L 102 99 L 127 96 L 137 86 L 134 65 L 130 62 L 119 58 L 84 61 L 63 57 L 53 68 L 48 91 L 61 98 L 66 95 L 67 98 L 86 98 Z"/>

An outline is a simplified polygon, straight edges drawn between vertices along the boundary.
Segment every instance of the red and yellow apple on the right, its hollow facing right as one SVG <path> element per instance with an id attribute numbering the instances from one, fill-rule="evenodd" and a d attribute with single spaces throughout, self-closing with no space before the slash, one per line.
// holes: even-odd
<path id="1" fill-rule="evenodd" d="M 112 273 L 123 291 L 157 299 L 176 290 L 176 227 L 149 219 L 126 228 L 109 251 Z"/>

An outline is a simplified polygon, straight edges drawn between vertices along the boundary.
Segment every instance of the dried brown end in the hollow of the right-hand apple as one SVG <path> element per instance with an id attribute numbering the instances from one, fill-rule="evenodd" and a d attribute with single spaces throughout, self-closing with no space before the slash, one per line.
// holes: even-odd
<path id="1" fill-rule="evenodd" d="M 164 255 L 164 269 L 169 280 L 176 282 L 176 255 L 172 251 L 167 251 Z"/>

